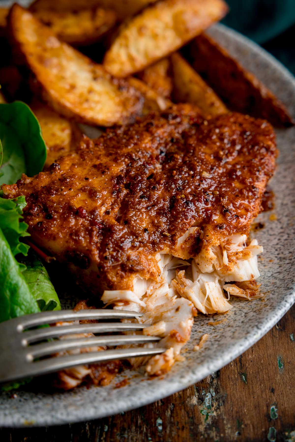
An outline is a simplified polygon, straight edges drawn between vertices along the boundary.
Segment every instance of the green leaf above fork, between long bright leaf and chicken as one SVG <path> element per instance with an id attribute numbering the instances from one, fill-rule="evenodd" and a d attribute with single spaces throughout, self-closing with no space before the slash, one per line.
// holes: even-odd
<path id="1" fill-rule="evenodd" d="M 22 258 L 21 262 L 26 266 L 23 277 L 39 309 L 41 311 L 60 310 L 61 304 L 57 293 L 41 260 L 34 253 L 29 253 L 27 258 Z"/>

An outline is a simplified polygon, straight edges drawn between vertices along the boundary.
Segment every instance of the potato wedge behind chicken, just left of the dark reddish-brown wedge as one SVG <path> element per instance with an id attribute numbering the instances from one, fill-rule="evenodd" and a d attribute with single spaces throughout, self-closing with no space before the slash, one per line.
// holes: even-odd
<path id="1" fill-rule="evenodd" d="M 226 114 L 226 106 L 195 69 L 176 52 L 171 55 L 173 101 L 196 104 L 204 115 Z"/>

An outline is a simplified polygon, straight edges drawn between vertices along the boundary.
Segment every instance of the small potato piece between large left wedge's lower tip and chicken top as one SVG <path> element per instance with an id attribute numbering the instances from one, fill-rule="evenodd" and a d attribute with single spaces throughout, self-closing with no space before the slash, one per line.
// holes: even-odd
<path id="1" fill-rule="evenodd" d="M 172 102 L 169 99 L 165 99 L 161 95 L 158 95 L 156 91 L 143 81 L 138 80 L 138 78 L 130 77 L 129 83 L 144 96 L 142 115 L 149 114 L 149 112 L 153 110 L 164 110 L 172 105 Z"/>

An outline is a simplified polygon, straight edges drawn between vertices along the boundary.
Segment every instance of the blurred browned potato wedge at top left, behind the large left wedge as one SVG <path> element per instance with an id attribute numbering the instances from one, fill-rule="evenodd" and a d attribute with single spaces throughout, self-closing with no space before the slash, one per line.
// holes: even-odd
<path id="1" fill-rule="evenodd" d="M 110 9 L 93 8 L 81 11 L 36 11 L 34 15 L 51 28 L 58 38 L 74 46 L 96 42 L 116 23 Z"/>

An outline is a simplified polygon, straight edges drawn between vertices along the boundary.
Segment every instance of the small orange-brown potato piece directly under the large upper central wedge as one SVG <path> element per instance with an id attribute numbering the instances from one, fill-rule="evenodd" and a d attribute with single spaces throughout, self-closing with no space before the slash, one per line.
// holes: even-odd
<path id="1" fill-rule="evenodd" d="M 138 72 L 137 77 L 164 98 L 169 98 L 172 91 L 172 78 L 169 75 L 170 61 L 163 58 L 157 63 Z"/>

